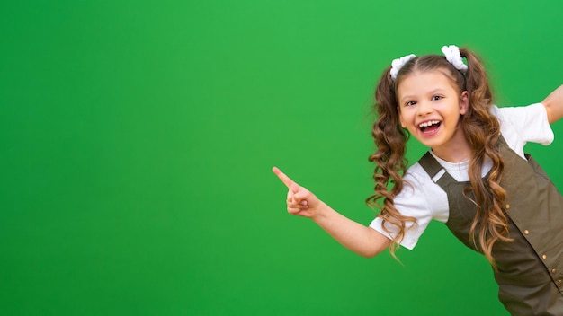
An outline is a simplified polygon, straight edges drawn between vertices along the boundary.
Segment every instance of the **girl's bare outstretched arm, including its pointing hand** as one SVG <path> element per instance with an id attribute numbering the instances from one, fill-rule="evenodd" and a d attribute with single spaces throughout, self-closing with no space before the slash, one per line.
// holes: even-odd
<path id="1" fill-rule="evenodd" d="M 274 167 L 273 173 L 288 187 L 287 206 L 290 214 L 312 219 L 344 247 L 363 257 L 375 257 L 389 247 L 390 241 L 383 234 L 339 214 L 308 189 L 290 180 L 278 168 Z"/>

